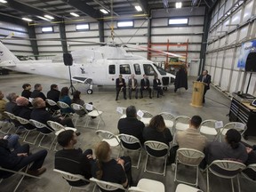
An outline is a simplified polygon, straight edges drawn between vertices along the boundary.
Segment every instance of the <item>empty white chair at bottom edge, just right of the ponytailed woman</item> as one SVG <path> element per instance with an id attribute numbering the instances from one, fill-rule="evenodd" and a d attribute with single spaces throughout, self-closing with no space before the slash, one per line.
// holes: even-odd
<path id="1" fill-rule="evenodd" d="M 164 184 L 157 180 L 140 179 L 137 187 L 128 188 L 129 192 L 164 192 Z M 184 191 L 185 192 L 185 191 Z"/>

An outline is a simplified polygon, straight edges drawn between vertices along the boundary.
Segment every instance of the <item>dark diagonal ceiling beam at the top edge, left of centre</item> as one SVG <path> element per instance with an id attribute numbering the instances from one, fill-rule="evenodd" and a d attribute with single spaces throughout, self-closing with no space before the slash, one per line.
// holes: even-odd
<path id="1" fill-rule="evenodd" d="M 75 7 L 77 10 L 80 12 L 84 12 L 84 14 L 99 20 L 99 18 L 102 17 L 102 14 L 100 13 L 99 10 L 94 10 L 92 6 L 86 4 L 85 2 L 82 2 L 80 0 L 61 0 L 62 2 L 65 2 L 73 7 Z"/>

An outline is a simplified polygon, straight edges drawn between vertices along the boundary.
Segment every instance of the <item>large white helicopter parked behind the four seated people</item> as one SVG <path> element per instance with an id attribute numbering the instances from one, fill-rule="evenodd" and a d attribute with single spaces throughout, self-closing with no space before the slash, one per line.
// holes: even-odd
<path id="1" fill-rule="evenodd" d="M 127 46 L 127 45 L 125 45 Z M 134 48 L 134 45 L 133 47 Z M 171 52 L 174 57 L 184 58 Z M 92 94 L 92 84 L 115 85 L 116 78 L 122 74 L 126 82 L 134 74 L 139 80 L 146 74 L 149 81 L 153 81 L 154 75 L 162 80 L 164 90 L 175 78 L 163 68 L 158 67 L 151 60 L 141 56 L 127 53 L 124 46 L 108 44 L 94 50 L 84 49 L 71 52 L 73 65 L 70 66 L 72 80 L 78 83 L 88 84 L 87 93 Z M 20 71 L 41 76 L 52 76 L 61 79 L 69 79 L 68 67 L 64 65 L 62 56 L 52 60 L 19 60 L 10 50 L 0 42 L 0 67 L 14 71 Z M 173 79 L 172 79 L 173 78 Z"/>

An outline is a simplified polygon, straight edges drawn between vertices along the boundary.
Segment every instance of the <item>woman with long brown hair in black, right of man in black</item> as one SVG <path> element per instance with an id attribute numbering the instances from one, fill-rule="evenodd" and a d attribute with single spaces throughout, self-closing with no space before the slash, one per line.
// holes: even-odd
<path id="1" fill-rule="evenodd" d="M 156 140 L 170 146 L 172 133 L 165 126 L 163 116 L 157 115 L 150 120 L 148 127 L 145 127 L 143 130 L 143 138 L 145 141 Z M 165 150 L 153 151 L 151 148 L 148 148 L 148 151 L 150 151 L 151 154 L 155 154 L 155 156 L 163 156 L 166 153 Z"/>

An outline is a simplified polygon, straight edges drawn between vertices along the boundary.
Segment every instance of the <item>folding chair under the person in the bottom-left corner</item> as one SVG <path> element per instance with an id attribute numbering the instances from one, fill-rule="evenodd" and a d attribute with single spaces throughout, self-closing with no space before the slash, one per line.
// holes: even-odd
<path id="1" fill-rule="evenodd" d="M 24 168 L 25 168 L 25 172 L 24 172 Z M 10 169 L 3 168 L 3 167 L 0 166 L 0 171 L 2 172 L 2 173 L 1 173 L 1 177 L 0 177 L 0 183 L 1 183 L 4 179 L 7 179 L 7 178 L 11 177 L 13 174 L 15 174 L 15 175 L 16 175 L 16 174 L 21 175 L 21 178 L 20 178 L 18 184 L 16 185 L 16 187 L 14 188 L 13 192 L 15 192 L 15 191 L 19 188 L 20 183 L 21 183 L 21 181 L 24 179 L 25 176 L 28 177 L 28 178 L 41 179 L 40 177 L 36 177 L 36 176 L 34 176 L 34 175 L 28 174 L 28 173 L 27 173 L 27 172 L 28 172 L 28 166 L 23 167 L 20 171 L 17 171 L 17 172 L 16 172 L 16 171 L 13 171 L 13 170 L 10 170 Z M 3 173 L 3 172 L 5 172 L 6 174 Z M 15 182 L 15 180 L 12 180 L 12 183 L 14 183 L 14 182 Z M 11 191 L 11 188 L 9 188 L 9 189 L 10 189 L 10 191 Z"/>

